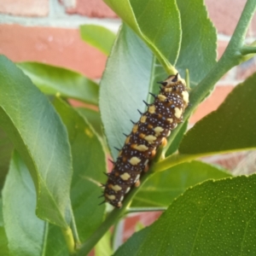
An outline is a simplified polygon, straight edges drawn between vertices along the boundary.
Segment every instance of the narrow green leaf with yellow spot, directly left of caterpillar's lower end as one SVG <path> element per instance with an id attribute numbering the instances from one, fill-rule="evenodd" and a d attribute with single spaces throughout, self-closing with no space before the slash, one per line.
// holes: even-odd
<path id="1" fill-rule="evenodd" d="M 106 179 L 106 156 L 102 143 L 91 126 L 61 99 L 54 102 L 57 112 L 67 126 L 73 154 L 73 180 L 71 199 L 79 237 L 85 241 L 102 223 L 104 205 L 101 183 Z"/>

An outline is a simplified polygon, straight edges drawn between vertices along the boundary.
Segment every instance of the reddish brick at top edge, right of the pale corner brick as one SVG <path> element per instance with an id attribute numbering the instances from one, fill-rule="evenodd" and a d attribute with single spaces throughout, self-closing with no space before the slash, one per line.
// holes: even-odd
<path id="1" fill-rule="evenodd" d="M 97 18 L 116 18 L 117 15 L 102 0 L 77 0 L 75 8 L 67 8 L 67 14 L 85 15 Z"/>

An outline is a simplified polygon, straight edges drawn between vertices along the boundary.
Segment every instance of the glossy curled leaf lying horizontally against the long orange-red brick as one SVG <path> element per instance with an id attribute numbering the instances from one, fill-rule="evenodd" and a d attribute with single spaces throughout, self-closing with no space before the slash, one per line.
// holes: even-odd
<path id="1" fill-rule="evenodd" d="M 20 62 L 17 66 L 45 94 L 73 98 L 94 105 L 98 104 L 98 84 L 80 73 L 37 62 Z"/>

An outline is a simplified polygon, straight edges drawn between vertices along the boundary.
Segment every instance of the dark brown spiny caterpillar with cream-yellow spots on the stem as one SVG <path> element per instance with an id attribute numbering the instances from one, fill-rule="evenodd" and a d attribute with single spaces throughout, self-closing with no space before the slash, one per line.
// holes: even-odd
<path id="1" fill-rule="evenodd" d="M 109 172 L 103 195 L 113 207 L 122 207 L 125 194 L 131 187 L 139 186 L 142 172 L 148 171 L 148 161 L 154 158 L 157 148 L 166 145 L 166 137 L 183 121 L 184 109 L 189 104 L 186 83 L 178 75 L 171 75 L 161 84 L 159 95 L 154 102 L 145 104 L 148 110 L 141 113 L 137 123 L 133 123 L 130 135 L 125 135 L 125 145 L 119 150 L 113 170 Z M 103 201 L 103 202 L 105 202 Z M 103 203 L 102 202 L 102 203 Z"/>

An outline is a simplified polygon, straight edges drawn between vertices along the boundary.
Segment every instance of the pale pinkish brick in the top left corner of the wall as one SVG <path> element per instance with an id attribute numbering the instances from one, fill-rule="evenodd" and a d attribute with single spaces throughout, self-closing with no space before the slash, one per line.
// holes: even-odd
<path id="1" fill-rule="evenodd" d="M 1 0 L 0 13 L 44 17 L 49 13 L 48 0 Z"/>

